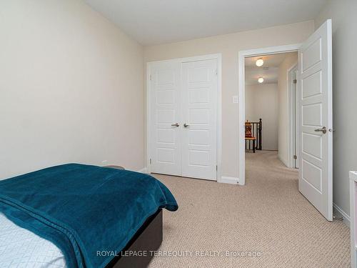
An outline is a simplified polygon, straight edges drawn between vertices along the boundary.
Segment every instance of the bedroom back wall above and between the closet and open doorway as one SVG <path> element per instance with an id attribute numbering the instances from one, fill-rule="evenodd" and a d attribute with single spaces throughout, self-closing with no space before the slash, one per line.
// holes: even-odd
<path id="1" fill-rule="evenodd" d="M 313 21 L 242 31 L 235 34 L 171 44 L 147 46 L 144 61 L 158 61 L 204 54 L 222 54 L 222 175 L 238 177 L 238 51 L 300 43 L 314 30 Z"/>

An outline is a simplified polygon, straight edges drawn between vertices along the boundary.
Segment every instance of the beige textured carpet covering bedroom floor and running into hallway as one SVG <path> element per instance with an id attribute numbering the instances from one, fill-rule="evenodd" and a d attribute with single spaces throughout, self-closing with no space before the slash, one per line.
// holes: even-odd
<path id="1" fill-rule="evenodd" d="M 298 192 L 297 172 L 276 152 L 246 154 L 244 187 L 155 177 L 179 205 L 177 212 L 164 212 L 160 254 L 186 257 L 154 257 L 151 268 L 350 266 L 348 227 L 321 216 Z M 223 256 L 200 257 L 196 251 Z M 226 257 L 226 251 L 260 252 L 261 257 Z"/>

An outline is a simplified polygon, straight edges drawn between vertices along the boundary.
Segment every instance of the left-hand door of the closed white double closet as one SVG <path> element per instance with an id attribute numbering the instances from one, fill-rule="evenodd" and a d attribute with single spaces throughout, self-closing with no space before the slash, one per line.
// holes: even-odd
<path id="1" fill-rule="evenodd" d="M 151 66 L 151 172 L 181 176 L 181 64 Z"/>

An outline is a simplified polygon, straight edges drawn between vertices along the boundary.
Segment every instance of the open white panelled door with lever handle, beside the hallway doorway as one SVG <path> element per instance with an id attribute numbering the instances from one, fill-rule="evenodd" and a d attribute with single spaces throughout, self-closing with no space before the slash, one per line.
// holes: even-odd
<path id="1" fill-rule="evenodd" d="M 298 189 L 332 221 L 332 41 L 326 21 L 298 51 Z"/>

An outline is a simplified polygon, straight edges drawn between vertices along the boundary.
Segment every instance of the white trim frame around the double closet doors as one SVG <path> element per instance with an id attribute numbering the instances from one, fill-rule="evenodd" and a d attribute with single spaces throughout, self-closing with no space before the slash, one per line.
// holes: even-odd
<path id="1" fill-rule="evenodd" d="M 210 59 L 217 60 L 217 79 L 218 79 L 218 92 L 217 92 L 217 139 L 216 139 L 216 179 L 217 182 L 221 182 L 222 179 L 222 54 L 207 54 L 202 56 L 191 56 L 186 58 L 178 58 L 178 59 L 166 59 L 162 61 L 150 61 L 146 63 L 146 167 L 145 170 L 147 173 L 151 173 L 151 163 L 150 163 L 150 155 L 151 155 L 151 66 L 154 64 L 164 63 L 164 62 L 176 62 L 176 63 L 184 63 L 190 61 L 206 61 Z"/>

